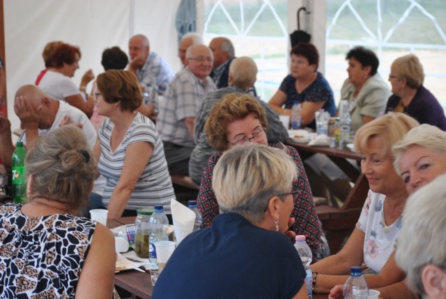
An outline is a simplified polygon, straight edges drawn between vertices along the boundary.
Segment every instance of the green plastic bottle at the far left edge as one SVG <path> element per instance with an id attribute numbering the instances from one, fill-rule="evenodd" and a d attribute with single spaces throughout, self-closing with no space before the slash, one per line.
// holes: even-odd
<path id="1" fill-rule="evenodd" d="M 26 202 L 26 149 L 21 141 L 13 152 L 11 163 L 13 166 L 13 200 L 17 203 Z"/>

